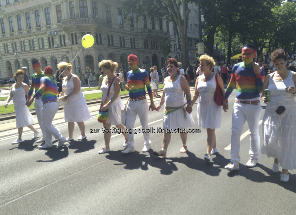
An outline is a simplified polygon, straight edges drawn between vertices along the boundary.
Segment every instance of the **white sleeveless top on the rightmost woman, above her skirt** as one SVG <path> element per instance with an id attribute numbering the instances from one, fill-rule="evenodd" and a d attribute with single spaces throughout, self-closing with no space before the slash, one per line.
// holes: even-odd
<path id="1" fill-rule="evenodd" d="M 268 89 L 270 91 L 270 102 L 267 103 L 266 108 L 278 107 L 292 107 L 296 105 L 295 95 L 286 92 L 287 87 L 295 87 L 293 81 L 293 71 L 289 71 L 289 75 L 283 81 L 275 81 L 272 79 L 275 72 L 270 74 Z"/>

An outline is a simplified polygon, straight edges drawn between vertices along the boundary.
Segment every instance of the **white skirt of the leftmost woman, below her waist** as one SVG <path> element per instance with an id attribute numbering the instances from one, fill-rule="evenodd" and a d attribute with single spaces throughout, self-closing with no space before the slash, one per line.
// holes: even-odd
<path id="1" fill-rule="evenodd" d="M 35 120 L 25 102 L 15 104 L 15 121 L 17 128 L 33 125 Z"/>

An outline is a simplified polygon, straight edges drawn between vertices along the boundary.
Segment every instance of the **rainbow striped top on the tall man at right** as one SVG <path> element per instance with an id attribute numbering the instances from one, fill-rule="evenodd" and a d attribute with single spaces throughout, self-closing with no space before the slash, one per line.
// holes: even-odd
<path id="1" fill-rule="evenodd" d="M 246 65 L 244 62 L 237 63 L 232 68 L 231 78 L 226 89 L 225 99 L 229 97 L 236 84 L 238 99 L 253 99 L 260 97 L 263 89 L 265 71 L 262 69 L 260 74 L 255 74 L 253 63 Z"/>

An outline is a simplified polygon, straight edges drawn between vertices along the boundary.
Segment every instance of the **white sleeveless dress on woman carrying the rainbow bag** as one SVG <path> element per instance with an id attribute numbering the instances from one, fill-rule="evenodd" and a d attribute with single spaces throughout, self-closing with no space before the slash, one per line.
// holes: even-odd
<path id="1" fill-rule="evenodd" d="M 115 93 L 114 84 L 115 84 L 115 80 L 112 83 L 112 86 L 110 87 L 108 101 L 110 101 L 111 98 L 114 96 L 114 93 Z M 101 90 L 103 92 L 103 96 L 102 96 L 103 102 L 105 102 L 105 100 L 107 98 L 108 88 L 109 88 L 109 86 L 106 85 L 106 83 L 104 81 L 102 81 Z M 120 99 L 120 95 L 118 95 L 118 97 L 115 99 L 115 101 L 111 105 L 109 105 L 109 107 L 108 107 L 108 119 L 107 119 L 106 123 L 109 123 L 114 126 L 121 124 L 121 110 L 123 110 L 123 109 L 124 109 L 123 102 Z"/>

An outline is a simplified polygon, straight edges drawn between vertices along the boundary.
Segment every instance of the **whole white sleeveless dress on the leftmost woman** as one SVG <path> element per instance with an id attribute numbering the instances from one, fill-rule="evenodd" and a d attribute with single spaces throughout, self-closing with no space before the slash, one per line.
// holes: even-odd
<path id="1" fill-rule="evenodd" d="M 24 83 L 22 83 L 22 87 L 15 89 L 15 85 L 12 87 L 12 101 L 15 107 L 15 120 L 17 123 L 17 128 L 26 127 L 29 125 L 33 125 L 35 120 L 32 114 L 29 111 L 29 108 L 26 105 L 26 92 L 23 88 Z"/>

